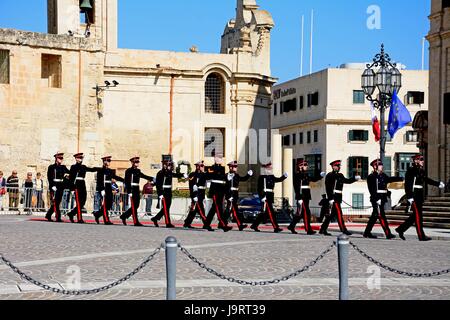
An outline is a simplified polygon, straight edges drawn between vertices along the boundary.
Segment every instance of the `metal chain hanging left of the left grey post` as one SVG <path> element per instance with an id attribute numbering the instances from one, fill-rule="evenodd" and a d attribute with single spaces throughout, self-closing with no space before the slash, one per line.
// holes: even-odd
<path id="1" fill-rule="evenodd" d="M 15 273 L 17 273 L 22 279 L 46 290 L 46 291 L 51 291 L 54 293 L 59 293 L 59 294 L 63 294 L 63 295 L 69 295 L 69 296 L 80 296 L 80 295 L 89 295 L 89 294 L 95 294 L 95 293 L 99 293 L 102 291 L 106 291 L 109 289 L 112 289 L 114 287 L 117 287 L 118 285 L 122 284 L 125 281 L 130 280 L 134 275 L 136 275 L 139 271 L 141 271 L 143 268 L 145 268 L 147 266 L 147 264 L 153 260 L 153 258 L 159 254 L 162 250 L 162 246 L 160 246 L 159 248 L 155 249 L 155 251 L 148 256 L 136 269 L 134 269 L 133 271 L 131 271 L 129 274 L 127 274 L 125 277 L 111 283 L 108 284 L 106 286 L 100 287 L 100 288 L 96 288 L 96 289 L 91 289 L 91 290 L 61 290 L 58 288 L 54 288 L 51 287 L 49 285 L 43 284 L 42 282 L 33 279 L 32 277 L 30 277 L 29 275 L 27 275 L 26 273 L 22 272 L 18 267 L 16 267 L 11 261 L 7 260 L 3 255 L 0 254 L 0 260 L 3 261 L 8 267 L 11 268 L 12 271 L 14 271 Z"/>

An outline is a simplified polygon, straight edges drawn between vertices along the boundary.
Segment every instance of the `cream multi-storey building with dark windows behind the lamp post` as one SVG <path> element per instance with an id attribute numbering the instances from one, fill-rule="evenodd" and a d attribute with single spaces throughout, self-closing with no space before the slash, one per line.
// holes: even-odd
<path id="1" fill-rule="evenodd" d="M 283 136 L 283 148 L 292 149 L 293 161 L 305 158 L 312 174 L 331 170 L 329 163 L 342 160 L 345 176 L 371 172 L 379 157 L 379 143 L 372 133 L 370 103 L 361 89 L 365 64 L 345 64 L 277 84 L 273 91 L 272 128 Z M 411 116 L 428 110 L 428 71 L 401 70 L 400 98 Z M 388 114 L 386 114 L 386 125 Z M 379 112 L 377 112 L 379 118 Z M 419 152 L 418 134 L 412 125 L 399 130 L 386 143 L 385 171 L 404 176 L 410 157 Z M 392 203 L 404 195 L 403 185 L 391 188 Z M 311 206 L 325 193 L 324 181 L 314 184 Z M 343 200 L 354 207 L 369 207 L 367 182 L 344 187 Z M 343 207 L 348 207 L 345 204 Z M 370 211 L 370 210 L 369 210 Z"/>

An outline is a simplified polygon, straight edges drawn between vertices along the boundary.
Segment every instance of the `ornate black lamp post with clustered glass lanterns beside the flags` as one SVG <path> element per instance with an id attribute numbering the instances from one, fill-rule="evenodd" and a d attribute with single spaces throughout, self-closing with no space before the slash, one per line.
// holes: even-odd
<path id="1" fill-rule="evenodd" d="M 397 69 L 397 64 L 392 63 L 389 55 L 384 52 L 383 44 L 381 52 L 375 56 L 372 64 L 367 64 L 361 76 L 361 87 L 366 99 L 375 109 L 380 110 L 380 160 L 383 163 L 386 147 L 385 111 L 392 104 L 394 91 L 398 94 L 402 87 L 402 75 Z M 378 94 L 374 96 L 376 89 Z"/>

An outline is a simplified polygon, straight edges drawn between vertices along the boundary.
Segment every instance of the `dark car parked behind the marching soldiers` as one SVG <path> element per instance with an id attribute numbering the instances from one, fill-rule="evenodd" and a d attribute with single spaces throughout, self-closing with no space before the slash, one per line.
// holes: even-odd
<path id="1" fill-rule="evenodd" d="M 284 208 L 283 208 L 284 207 Z M 278 206 L 274 204 L 275 213 L 278 223 L 291 223 L 292 209 L 288 206 Z M 239 201 L 239 212 L 244 217 L 244 223 L 253 223 L 256 217 L 261 213 L 262 202 L 258 196 L 242 198 Z M 234 220 L 234 219 L 233 219 Z M 264 223 L 269 223 L 269 219 Z"/>

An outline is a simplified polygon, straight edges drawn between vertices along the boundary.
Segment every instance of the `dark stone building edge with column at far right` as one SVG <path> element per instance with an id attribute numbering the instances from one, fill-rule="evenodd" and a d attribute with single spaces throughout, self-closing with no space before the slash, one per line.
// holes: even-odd
<path id="1" fill-rule="evenodd" d="M 430 112 L 418 126 L 427 132 L 429 176 L 450 183 L 450 1 L 432 0 L 429 18 Z"/>

